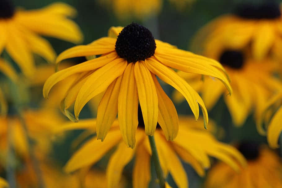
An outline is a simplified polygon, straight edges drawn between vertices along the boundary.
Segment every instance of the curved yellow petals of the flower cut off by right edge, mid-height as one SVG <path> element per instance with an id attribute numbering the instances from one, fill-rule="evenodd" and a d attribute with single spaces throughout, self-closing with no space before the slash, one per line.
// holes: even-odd
<path id="1" fill-rule="evenodd" d="M 272 96 L 265 104 L 262 113 L 260 114 L 260 121 L 258 126 L 263 129 L 263 123 L 266 124 L 267 129 L 267 141 L 271 148 L 278 148 L 279 137 L 282 131 L 281 119 L 282 119 L 282 93 L 278 93 Z M 277 110 L 277 111 L 276 111 Z M 275 112 L 273 117 L 273 111 Z"/>

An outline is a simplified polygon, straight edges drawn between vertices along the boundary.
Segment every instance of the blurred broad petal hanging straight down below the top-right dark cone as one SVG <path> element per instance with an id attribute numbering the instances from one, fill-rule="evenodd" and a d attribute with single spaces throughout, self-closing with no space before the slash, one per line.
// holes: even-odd
<path id="1" fill-rule="evenodd" d="M 255 58 L 262 59 L 274 44 L 275 32 L 268 22 L 262 22 L 258 27 L 253 38 L 252 50 Z"/>

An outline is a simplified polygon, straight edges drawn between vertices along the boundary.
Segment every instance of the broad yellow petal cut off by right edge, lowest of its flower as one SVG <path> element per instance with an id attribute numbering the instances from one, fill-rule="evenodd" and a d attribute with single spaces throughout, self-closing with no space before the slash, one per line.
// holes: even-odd
<path id="1" fill-rule="evenodd" d="M 273 116 L 268 129 L 267 129 L 267 141 L 271 148 L 278 148 L 278 139 L 282 131 L 282 107 Z"/>

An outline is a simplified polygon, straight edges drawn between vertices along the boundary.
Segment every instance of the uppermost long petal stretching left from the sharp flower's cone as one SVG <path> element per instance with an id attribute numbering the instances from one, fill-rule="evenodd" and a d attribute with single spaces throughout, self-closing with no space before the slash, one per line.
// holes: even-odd
<path id="1" fill-rule="evenodd" d="M 79 45 L 69 48 L 59 54 L 56 63 L 73 57 L 101 55 L 112 52 L 115 50 L 115 43 L 112 43 L 113 41 L 111 39 L 109 37 L 103 37 L 92 42 L 90 45 Z"/>

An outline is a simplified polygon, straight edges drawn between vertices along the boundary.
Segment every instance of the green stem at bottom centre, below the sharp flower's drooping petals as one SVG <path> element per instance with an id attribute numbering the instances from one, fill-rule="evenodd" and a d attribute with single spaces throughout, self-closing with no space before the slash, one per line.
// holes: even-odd
<path id="1" fill-rule="evenodd" d="M 161 164 L 160 164 L 160 160 L 159 160 L 158 153 L 157 153 L 155 139 L 154 139 L 154 136 L 148 136 L 148 137 L 149 137 L 149 141 L 150 141 L 150 145 L 152 149 L 152 157 L 154 160 L 157 177 L 159 179 L 159 184 L 161 188 L 165 188 L 165 179 L 164 179 L 163 172 L 161 170 Z"/>

